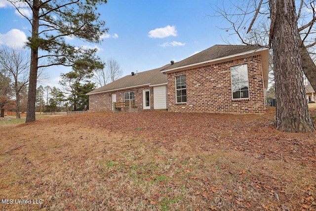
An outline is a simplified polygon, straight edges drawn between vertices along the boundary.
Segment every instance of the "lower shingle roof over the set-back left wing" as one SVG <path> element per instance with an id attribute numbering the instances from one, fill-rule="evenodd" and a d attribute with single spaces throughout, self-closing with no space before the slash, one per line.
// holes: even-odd
<path id="1" fill-rule="evenodd" d="M 167 84 L 167 75 L 164 75 L 160 70 L 167 68 L 171 64 L 164 65 L 160 68 L 148 70 L 140 73 L 135 73 L 134 76 L 127 75 L 110 84 L 106 84 L 100 88 L 94 89 L 87 93 L 87 95 L 110 92 L 115 90 L 140 87 L 144 85 L 155 86 L 159 84 Z"/>

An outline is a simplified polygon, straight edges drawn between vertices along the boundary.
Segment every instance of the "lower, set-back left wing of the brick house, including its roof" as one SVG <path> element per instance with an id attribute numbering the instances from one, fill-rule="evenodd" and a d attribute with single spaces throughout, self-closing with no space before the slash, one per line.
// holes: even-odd
<path id="1" fill-rule="evenodd" d="M 89 111 L 112 111 L 113 102 L 131 100 L 138 106 L 138 111 L 166 110 L 167 76 L 160 73 L 160 70 L 170 65 L 141 73 L 132 73 L 88 92 Z"/>

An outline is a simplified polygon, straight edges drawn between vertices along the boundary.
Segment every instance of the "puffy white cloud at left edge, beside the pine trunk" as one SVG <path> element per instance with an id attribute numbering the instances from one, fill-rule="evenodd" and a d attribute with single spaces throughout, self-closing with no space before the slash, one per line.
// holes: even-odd
<path id="1" fill-rule="evenodd" d="M 10 47 L 23 47 L 25 42 L 27 42 L 25 33 L 18 29 L 11 29 L 6 34 L 0 34 L 0 44 Z"/>

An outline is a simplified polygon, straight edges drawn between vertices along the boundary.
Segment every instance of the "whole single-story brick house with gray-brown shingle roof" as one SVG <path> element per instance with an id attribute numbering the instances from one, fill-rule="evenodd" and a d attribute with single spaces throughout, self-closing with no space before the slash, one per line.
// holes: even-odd
<path id="1" fill-rule="evenodd" d="M 89 111 L 133 100 L 140 111 L 265 112 L 268 48 L 214 45 L 180 62 L 125 76 L 89 93 Z"/>

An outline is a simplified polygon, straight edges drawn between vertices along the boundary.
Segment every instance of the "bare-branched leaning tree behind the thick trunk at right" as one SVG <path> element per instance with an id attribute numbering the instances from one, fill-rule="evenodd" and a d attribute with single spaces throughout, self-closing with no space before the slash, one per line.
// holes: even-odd
<path id="1" fill-rule="evenodd" d="M 274 0 L 271 2 L 274 2 Z M 315 0 L 297 1 L 299 9 L 296 14 L 299 39 L 301 39 L 300 54 L 303 71 L 314 89 L 316 89 L 316 65 L 311 55 L 316 54 L 315 6 Z M 270 15 L 270 10 L 274 11 L 276 8 L 270 6 L 269 0 L 234 1 L 230 3 L 223 1 L 222 5 L 215 5 L 214 10 L 216 14 L 214 16 L 224 17 L 225 21 L 230 24 L 230 27 L 222 28 L 229 33 L 228 38 L 237 35 L 243 44 L 271 47 L 273 34 L 271 29 L 275 17 Z M 228 38 L 226 42 L 230 43 L 231 41 Z"/>

